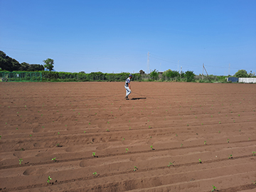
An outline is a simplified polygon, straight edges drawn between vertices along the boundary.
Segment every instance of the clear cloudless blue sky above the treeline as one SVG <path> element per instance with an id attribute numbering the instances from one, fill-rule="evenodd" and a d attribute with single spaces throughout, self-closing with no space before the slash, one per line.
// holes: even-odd
<path id="1" fill-rule="evenodd" d="M 0 50 L 85 73 L 256 73 L 255 0 L 0 0 Z"/>

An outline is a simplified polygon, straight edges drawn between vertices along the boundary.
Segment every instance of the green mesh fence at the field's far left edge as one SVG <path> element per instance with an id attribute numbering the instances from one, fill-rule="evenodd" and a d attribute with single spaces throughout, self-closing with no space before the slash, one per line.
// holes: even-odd
<path id="1" fill-rule="evenodd" d="M 0 81 L 22 82 L 41 81 L 41 72 L 0 72 Z"/>

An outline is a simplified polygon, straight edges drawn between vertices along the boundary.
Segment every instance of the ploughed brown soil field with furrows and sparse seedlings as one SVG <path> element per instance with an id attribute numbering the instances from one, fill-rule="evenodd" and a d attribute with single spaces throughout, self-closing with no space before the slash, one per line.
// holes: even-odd
<path id="1" fill-rule="evenodd" d="M 124 82 L 0 90 L 0 191 L 256 191 L 256 85 L 132 82 L 134 100 Z"/>

